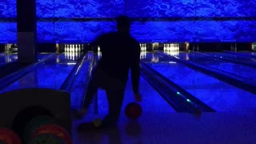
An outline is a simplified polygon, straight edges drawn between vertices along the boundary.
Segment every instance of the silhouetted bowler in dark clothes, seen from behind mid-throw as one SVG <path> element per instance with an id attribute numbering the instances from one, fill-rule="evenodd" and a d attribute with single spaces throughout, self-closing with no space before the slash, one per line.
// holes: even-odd
<path id="1" fill-rule="evenodd" d="M 129 70 L 134 90 L 134 97 L 141 101 L 139 85 L 139 43 L 130 35 L 130 18 L 119 16 L 116 18 L 117 32 L 102 34 L 92 42 L 91 46 L 100 46 L 102 58 L 95 67 L 86 90 L 86 98 L 79 115 L 86 114 L 93 96 L 99 87 L 106 90 L 109 103 L 109 114 L 103 118 L 100 126 L 113 126 L 118 121 L 122 109 L 126 82 Z M 82 123 L 78 130 L 92 126 L 93 122 Z M 95 125 L 93 125 L 94 127 Z M 98 125 L 99 126 L 99 125 Z"/>

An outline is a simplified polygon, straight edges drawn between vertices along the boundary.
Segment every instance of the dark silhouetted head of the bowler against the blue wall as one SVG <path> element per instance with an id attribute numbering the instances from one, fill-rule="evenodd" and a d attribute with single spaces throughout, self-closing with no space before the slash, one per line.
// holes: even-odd
<path id="1" fill-rule="evenodd" d="M 125 15 L 120 15 L 116 18 L 118 32 L 130 32 L 130 18 Z"/>

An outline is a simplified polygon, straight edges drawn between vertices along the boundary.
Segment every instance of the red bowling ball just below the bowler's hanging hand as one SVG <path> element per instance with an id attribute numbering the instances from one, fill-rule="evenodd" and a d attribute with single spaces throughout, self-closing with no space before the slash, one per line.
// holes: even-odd
<path id="1" fill-rule="evenodd" d="M 125 108 L 125 113 L 128 118 L 139 118 L 142 115 L 142 107 L 137 102 L 130 102 Z"/>

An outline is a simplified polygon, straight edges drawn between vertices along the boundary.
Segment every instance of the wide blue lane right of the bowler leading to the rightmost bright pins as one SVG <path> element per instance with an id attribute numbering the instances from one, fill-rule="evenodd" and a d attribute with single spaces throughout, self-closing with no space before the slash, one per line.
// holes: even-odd
<path id="1" fill-rule="evenodd" d="M 180 58 L 189 58 L 186 53 L 176 54 Z M 188 54 L 190 56 L 190 54 Z M 152 61 L 154 59 L 154 61 Z M 201 59 L 203 61 L 203 59 Z M 255 113 L 256 97 L 245 90 L 202 74 L 189 67 L 159 58 L 157 54 L 147 53 L 142 60 L 170 81 L 187 90 L 194 97 L 216 111 L 235 113 Z M 219 64 L 222 64 L 221 62 Z"/>

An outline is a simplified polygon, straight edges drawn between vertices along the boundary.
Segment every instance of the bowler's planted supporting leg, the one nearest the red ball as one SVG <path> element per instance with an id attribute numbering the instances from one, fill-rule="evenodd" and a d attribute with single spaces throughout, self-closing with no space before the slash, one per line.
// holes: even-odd
<path id="1" fill-rule="evenodd" d="M 109 103 L 109 114 L 102 119 L 102 127 L 114 126 L 118 122 L 122 110 L 122 102 L 124 98 L 124 91 L 126 82 L 111 82 L 106 89 L 106 96 Z"/>

